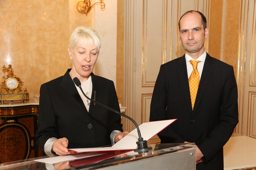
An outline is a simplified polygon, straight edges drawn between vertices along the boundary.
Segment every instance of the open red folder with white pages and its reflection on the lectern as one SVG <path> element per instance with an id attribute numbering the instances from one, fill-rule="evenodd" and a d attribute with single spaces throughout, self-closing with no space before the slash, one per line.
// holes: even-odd
<path id="1" fill-rule="evenodd" d="M 156 134 L 161 132 L 167 126 L 172 124 L 176 119 L 169 119 L 169 120 L 160 120 L 155 122 L 145 122 L 139 126 L 141 137 L 144 140 L 150 140 Z M 115 143 L 112 147 L 103 147 L 103 148 L 76 148 L 76 149 L 69 149 L 70 151 L 75 151 L 76 153 L 83 153 L 83 154 L 73 154 L 68 156 L 57 156 L 52 158 L 44 158 L 44 159 L 37 159 L 35 161 L 44 162 L 44 163 L 58 163 L 63 161 L 71 161 L 82 159 L 86 157 L 100 157 L 100 155 L 106 155 L 108 152 L 111 157 L 117 156 L 113 154 L 113 151 L 119 151 L 119 154 L 123 154 L 125 152 L 132 151 L 137 148 L 136 142 L 138 141 L 139 135 L 138 131 L 135 128 L 132 132 L 124 136 L 121 140 Z M 108 158 L 111 158 L 108 157 Z M 107 158 L 105 158 L 107 159 Z M 104 159 L 101 159 L 104 160 Z"/>

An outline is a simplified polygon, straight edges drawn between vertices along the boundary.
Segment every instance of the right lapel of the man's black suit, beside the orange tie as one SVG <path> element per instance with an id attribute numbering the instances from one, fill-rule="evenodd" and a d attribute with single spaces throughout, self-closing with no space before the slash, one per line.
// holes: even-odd
<path id="1" fill-rule="evenodd" d="M 212 73 L 214 72 L 214 62 L 212 61 L 212 58 L 207 54 L 205 58 L 205 63 L 203 67 L 202 77 L 200 79 L 198 92 L 197 92 L 197 98 L 193 110 L 193 114 L 197 110 L 200 101 L 202 100 L 204 91 L 209 83 L 209 80 L 211 79 Z"/>

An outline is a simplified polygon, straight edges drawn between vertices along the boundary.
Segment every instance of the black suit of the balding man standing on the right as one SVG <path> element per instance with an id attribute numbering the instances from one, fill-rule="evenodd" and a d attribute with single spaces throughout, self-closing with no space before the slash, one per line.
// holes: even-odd
<path id="1" fill-rule="evenodd" d="M 195 142 L 204 155 L 197 169 L 223 169 L 223 146 L 238 124 L 233 67 L 207 54 L 192 110 L 185 55 L 161 65 L 150 121 L 174 118 L 158 134 L 161 143 Z"/>

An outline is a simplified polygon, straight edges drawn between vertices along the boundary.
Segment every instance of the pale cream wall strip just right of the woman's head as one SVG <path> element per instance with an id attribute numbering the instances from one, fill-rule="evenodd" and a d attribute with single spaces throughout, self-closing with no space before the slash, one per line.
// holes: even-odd
<path id="1" fill-rule="evenodd" d="M 100 35 L 102 48 L 94 72 L 116 85 L 117 0 L 104 2 L 104 11 L 95 7 L 95 29 Z"/>

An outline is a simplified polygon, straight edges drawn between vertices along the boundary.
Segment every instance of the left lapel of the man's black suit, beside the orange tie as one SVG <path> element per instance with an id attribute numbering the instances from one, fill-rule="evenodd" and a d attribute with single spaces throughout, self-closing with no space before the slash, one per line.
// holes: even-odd
<path id="1" fill-rule="evenodd" d="M 182 91 L 184 94 L 187 107 L 189 108 L 189 111 L 192 112 L 185 55 L 182 56 L 181 59 L 179 60 L 179 65 L 177 67 L 177 74 L 179 75 L 180 84 L 183 89 Z"/>

